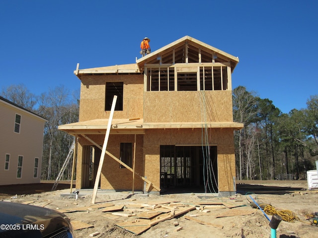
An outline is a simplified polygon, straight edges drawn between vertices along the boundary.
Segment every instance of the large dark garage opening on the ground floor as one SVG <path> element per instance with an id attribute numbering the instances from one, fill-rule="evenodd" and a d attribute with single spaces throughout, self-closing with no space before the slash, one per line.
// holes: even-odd
<path id="1" fill-rule="evenodd" d="M 217 146 L 160 146 L 160 188 L 218 192 Z"/>

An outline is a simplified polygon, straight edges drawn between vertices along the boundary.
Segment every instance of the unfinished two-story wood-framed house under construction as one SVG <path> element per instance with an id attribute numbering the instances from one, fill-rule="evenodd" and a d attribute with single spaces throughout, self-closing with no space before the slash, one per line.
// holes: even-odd
<path id="1" fill-rule="evenodd" d="M 235 193 L 234 130 L 243 124 L 233 122 L 231 75 L 238 62 L 185 36 L 136 63 L 78 64 L 79 122 L 59 126 L 78 137 L 76 188 L 94 185 L 117 95 L 101 189 Z"/>

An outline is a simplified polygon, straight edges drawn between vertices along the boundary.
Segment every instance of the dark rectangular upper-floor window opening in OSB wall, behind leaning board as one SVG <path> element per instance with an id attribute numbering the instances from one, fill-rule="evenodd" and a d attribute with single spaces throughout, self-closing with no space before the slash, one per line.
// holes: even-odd
<path id="1" fill-rule="evenodd" d="M 111 110 L 114 95 L 117 96 L 115 111 L 123 111 L 124 82 L 106 82 L 105 111 Z"/>

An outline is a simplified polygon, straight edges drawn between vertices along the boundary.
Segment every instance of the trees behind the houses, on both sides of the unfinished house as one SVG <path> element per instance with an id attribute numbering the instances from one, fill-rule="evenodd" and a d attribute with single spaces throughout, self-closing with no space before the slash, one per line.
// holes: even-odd
<path id="1" fill-rule="evenodd" d="M 44 128 L 42 180 L 57 178 L 74 137 L 61 124 L 79 120 L 79 92 L 58 86 L 37 96 L 23 84 L 2 88 L 1 96 L 47 119 Z M 307 108 L 282 113 L 269 99 L 238 86 L 233 90 L 237 179 L 306 179 L 318 160 L 318 95 Z M 62 179 L 71 179 L 69 163 Z"/>

